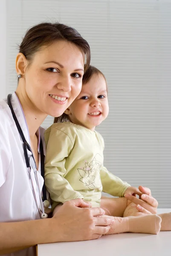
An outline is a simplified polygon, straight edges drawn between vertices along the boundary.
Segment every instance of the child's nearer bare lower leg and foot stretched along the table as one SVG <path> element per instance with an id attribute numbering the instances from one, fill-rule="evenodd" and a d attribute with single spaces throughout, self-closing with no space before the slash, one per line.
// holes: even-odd
<path id="1" fill-rule="evenodd" d="M 162 221 L 155 214 L 125 218 L 109 216 L 109 218 L 113 218 L 114 223 L 110 225 L 110 230 L 106 235 L 125 232 L 158 234 Z"/>

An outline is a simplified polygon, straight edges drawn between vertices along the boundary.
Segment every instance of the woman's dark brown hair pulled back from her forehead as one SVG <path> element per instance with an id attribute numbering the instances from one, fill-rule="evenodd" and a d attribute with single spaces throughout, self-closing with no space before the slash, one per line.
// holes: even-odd
<path id="1" fill-rule="evenodd" d="M 35 52 L 42 46 L 49 46 L 54 41 L 66 40 L 75 44 L 85 54 L 85 71 L 90 64 L 90 46 L 74 28 L 61 23 L 40 23 L 27 30 L 19 46 L 19 52 L 25 55 L 28 61 L 32 61 Z M 30 63 L 29 63 L 30 64 Z"/>

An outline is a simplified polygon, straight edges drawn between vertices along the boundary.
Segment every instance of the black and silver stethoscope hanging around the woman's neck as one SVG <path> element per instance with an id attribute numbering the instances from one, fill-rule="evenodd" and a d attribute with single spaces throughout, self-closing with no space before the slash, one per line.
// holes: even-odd
<path id="1" fill-rule="evenodd" d="M 45 183 L 43 183 L 43 188 L 42 188 L 43 198 L 42 198 L 41 190 L 40 190 L 40 186 L 39 186 L 39 182 L 38 182 L 37 166 L 36 166 L 35 158 L 34 158 L 34 155 L 33 155 L 33 152 L 32 152 L 32 148 L 30 147 L 29 143 L 27 143 L 26 138 L 24 137 L 23 131 L 20 127 L 20 124 L 17 120 L 17 116 L 14 113 L 14 109 L 13 109 L 12 104 L 11 104 L 11 96 L 12 96 L 12 94 L 9 94 L 7 96 L 7 101 L 8 101 L 9 108 L 11 109 L 14 122 L 17 126 L 20 137 L 23 141 L 24 157 L 25 157 L 25 160 L 26 160 L 26 166 L 27 166 L 27 170 L 28 170 L 28 173 L 29 173 L 29 179 L 30 179 L 30 183 L 31 183 L 31 186 L 32 186 L 32 192 L 33 192 L 33 197 L 35 199 L 35 204 L 36 204 L 36 207 L 38 209 L 40 218 L 47 218 L 48 215 L 45 213 L 45 209 L 47 209 L 47 212 L 49 212 L 49 208 L 48 208 L 49 207 L 49 201 L 46 198 Z M 28 156 L 27 150 L 29 150 L 32 153 L 30 156 Z M 40 151 L 41 151 L 41 176 L 43 177 L 43 180 L 44 180 L 44 154 L 43 154 L 42 140 L 40 140 Z M 40 199 L 40 203 L 41 203 L 41 209 L 39 208 L 38 201 L 36 199 L 35 189 L 34 189 L 34 186 L 33 186 L 32 175 L 31 175 L 31 166 L 32 166 L 32 169 L 33 169 L 34 174 L 35 174 L 35 181 L 36 181 L 36 185 L 38 187 L 38 194 L 39 194 L 39 199 Z M 44 207 L 45 207 L 45 209 L 44 209 Z"/>

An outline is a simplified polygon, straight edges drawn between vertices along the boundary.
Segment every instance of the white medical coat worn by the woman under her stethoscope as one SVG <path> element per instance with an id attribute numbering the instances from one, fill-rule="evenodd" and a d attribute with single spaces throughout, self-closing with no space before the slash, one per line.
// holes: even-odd
<path id="1" fill-rule="evenodd" d="M 6 102 L 7 100 L 0 100 L 0 222 L 34 220 L 40 217 L 36 208 L 29 175 L 26 168 L 23 142 L 18 133 L 9 105 L 7 105 Z M 11 102 L 26 141 L 30 144 L 29 130 L 26 124 L 26 119 L 19 99 L 15 93 L 12 94 Z M 38 134 L 40 133 L 42 141 L 44 142 L 43 128 L 39 129 Z M 40 153 L 39 144 L 38 152 Z M 46 151 L 44 143 L 43 150 L 44 152 Z M 39 205 L 40 200 L 33 170 L 32 180 Z M 40 154 L 38 164 L 38 180 L 40 189 L 42 189 L 43 177 L 41 176 Z M 29 248 L 8 255 L 32 256 L 34 255 L 34 250 L 33 248 Z"/>

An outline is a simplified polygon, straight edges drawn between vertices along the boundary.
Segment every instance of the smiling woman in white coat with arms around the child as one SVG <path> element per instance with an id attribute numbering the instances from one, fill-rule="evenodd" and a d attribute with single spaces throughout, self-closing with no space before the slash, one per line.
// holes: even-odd
<path id="1" fill-rule="evenodd" d="M 81 199 L 66 202 L 53 218 L 40 219 L 41 213 L 36 207 L 36 202 L 40 204 L 36 175 L 40 190 L 43 186 L 40 175 L 43 129 L 40 125 L 48 114 L 60 116 L 78 96 L 89 64 L 89 44 L 75 29 L 63 24 L 41 23 L 29 29 L 23 38 L 16 58 L 18 86 L 10 102 L 32 148 L 35 167 L 27 145 L 25 153 L 29 154 L 33 166 L 30 180 L 23 141 L 7 100 L 1 100 L 0 254 L 34 255 L 33 248 L 26 248 L 41 243 L 97 239 L 109 230 L 110 218 L 96 218 L 104 211 L 90 208 Z M 44 143 L 43 150 L 45 154 Z M 34 175 L 35 168 L 38 172 L 35 170 Z M 136 204 L 139 200 L 141 211 L 155 212 L 157 201 L 149 195 L 150 190 L 144 188 L 142 192 L 148 194 L 146 202 L 131 196 L 128 199 Z M 124 198 L 112 200 L 116 206 L 119 200 L 124 202 Z M 119 214 L 121 209 L 116 210 L 116 215 Z M 12 253 L 17 250 L 20 251 Z"/>

